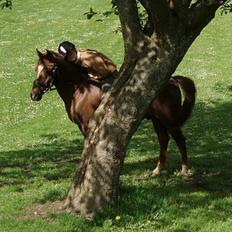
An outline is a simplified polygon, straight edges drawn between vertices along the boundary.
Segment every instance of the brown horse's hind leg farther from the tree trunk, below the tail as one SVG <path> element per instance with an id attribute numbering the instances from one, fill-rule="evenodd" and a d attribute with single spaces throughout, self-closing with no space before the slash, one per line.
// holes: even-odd
<path id="1" fill-rule="evenodd" d="M 187 156 L 187 148 L 185 137 L 180 128 L 170 129 L 169 130 L 171 136 L 176 142 L 178 149 L 181 154 L 181 172 L 180 175 L 187 176 L 188 175 L 188 156 Z"/>

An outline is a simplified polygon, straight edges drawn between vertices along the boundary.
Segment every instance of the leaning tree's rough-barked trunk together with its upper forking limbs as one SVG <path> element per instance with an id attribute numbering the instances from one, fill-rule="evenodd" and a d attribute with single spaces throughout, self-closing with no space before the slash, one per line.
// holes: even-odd
<path id="1" fill-rule="evenodd" d="M 140 0 L 148 14 L 142 28 L 137 2 L 116 1 L 125 56 L 119 79 L 89 124 L 82 161 L 66 207 L 86 215 L 118 197 L 128 143 L 150 102 L 188 48 L 214 18 L 222 1 Z"/>

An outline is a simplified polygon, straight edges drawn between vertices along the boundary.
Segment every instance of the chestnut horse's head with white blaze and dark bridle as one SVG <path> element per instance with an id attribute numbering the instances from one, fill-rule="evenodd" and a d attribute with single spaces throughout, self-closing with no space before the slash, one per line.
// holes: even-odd
<path id="1" fill-rule="evenodd" d="M 41 100 L 43 94 L 51 89 L 56 75 L 57 63 L 62 61 L 62 57 L 55 52 L 41 53 L 39 50 L 36 51 L 39 60 L 35 67 L 36 79 L 31 90 L 31 99 L 33 101 Z"/>

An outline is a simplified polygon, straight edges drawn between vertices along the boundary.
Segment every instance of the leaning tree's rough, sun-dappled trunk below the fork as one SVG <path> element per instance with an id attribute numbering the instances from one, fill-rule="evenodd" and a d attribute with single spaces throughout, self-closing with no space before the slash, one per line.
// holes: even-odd
<path id="1" fill-rule="evenodd" d="M 117 198 L 128 143 L 151 100 L 180 62 L 171 47 L 159 50 L 160 54 L 158 49 L 146 51 L 137 60 L 128 82 L 119 92 L 112 90 L 90 122 L 82 162 L 66 201 L 75 212 L 88 214 Z"/>

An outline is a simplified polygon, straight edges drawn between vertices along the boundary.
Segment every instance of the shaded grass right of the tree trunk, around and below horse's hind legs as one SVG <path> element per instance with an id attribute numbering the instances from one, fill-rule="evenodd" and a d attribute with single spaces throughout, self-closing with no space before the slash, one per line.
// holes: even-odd
<path id="1" fill-rule="evenodd" d="M 122 199 L 116 214 L 134 224 L 149 220 L 157 228 L 172 225 L 176 219 L 192 217 L 194 220 L 199 212 L 204 212 L 200 215 L 206 221 L 223 221 L 231 215 L 232 210 L 228 207 L 232 195 L 231 113 L 232 102 L 196 105 L 193 117 L 184 128 L 194 171 L 194 175 L 187 179 L 173 173 L 180 167 L 180 155 L 174 143 L 170 146 L 167 173 L 156 179 L 139 180 L 133 178 L 135 175 L 126 178 L 134 169 L 139 175 L 150 172 L 158 159 L 159 146 L 157 142 L 152 144 L 150 137 L 152 125 L 145 122 L 131 141 L 130 149 L 144 155 L 148 148 L 150 154 L 142 161 L 133 159 L 125 163 Z M 98 220 L 106 215 L 115 217 L 111 210 L 106 212 L 100 213 Z M 125 225 L 122 222 L 117 226 Z"/>

